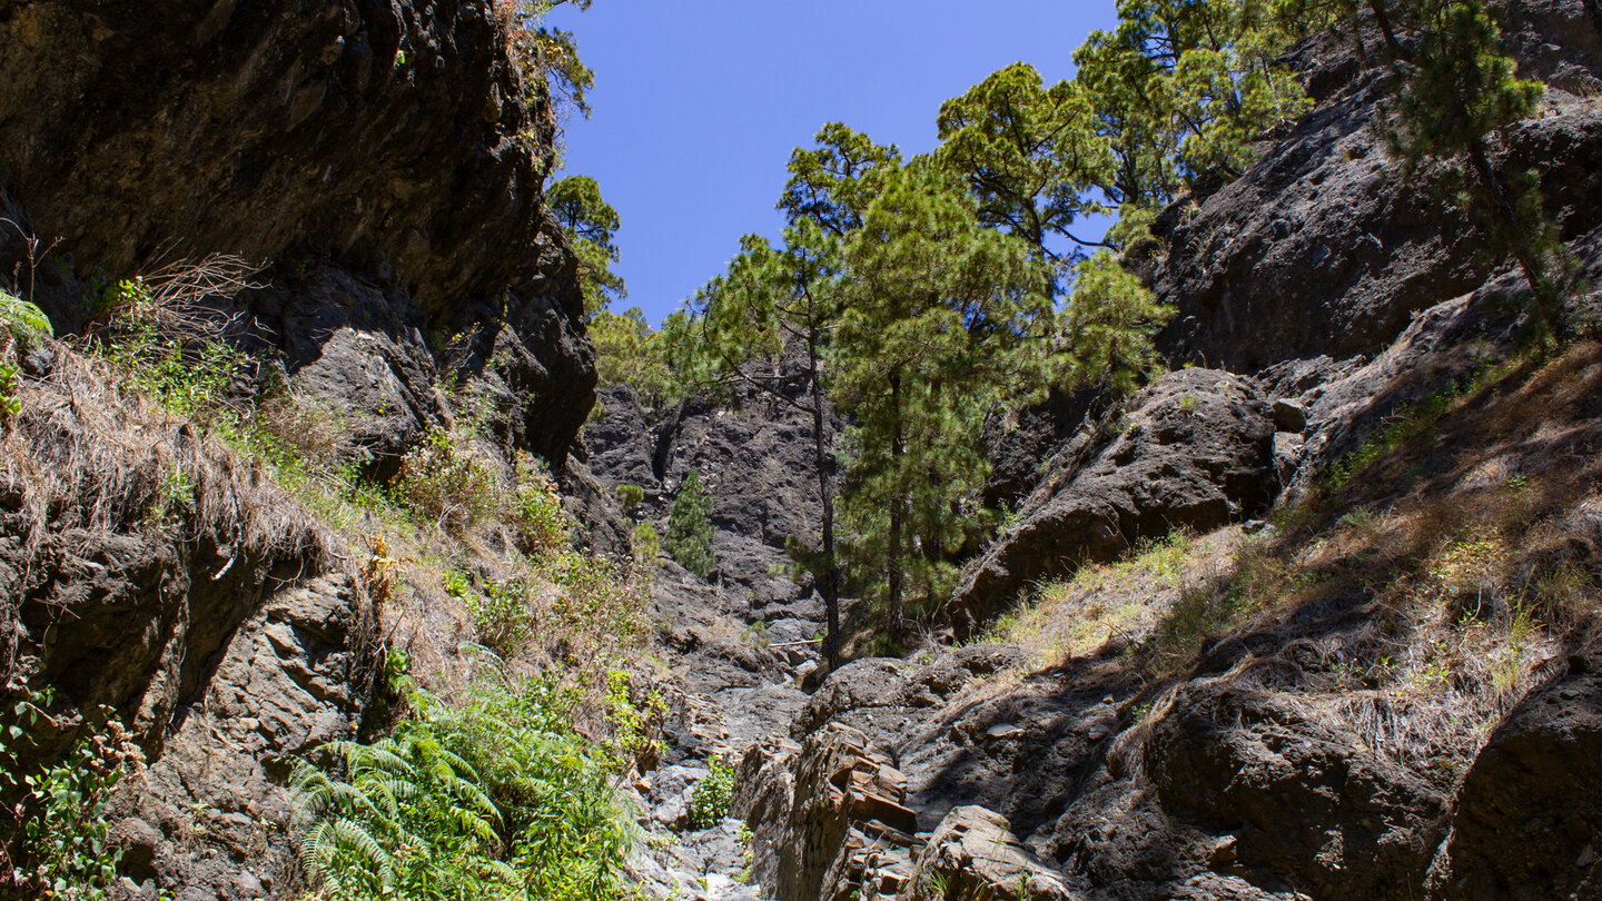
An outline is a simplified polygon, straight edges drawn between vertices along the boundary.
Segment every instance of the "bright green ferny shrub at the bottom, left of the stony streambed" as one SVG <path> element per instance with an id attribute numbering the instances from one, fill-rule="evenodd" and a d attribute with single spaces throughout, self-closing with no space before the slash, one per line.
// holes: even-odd
<path id="1" fill-rule="evenodd" d="M 301 861 L 341 901 L 610 901 L 633 822 L 548 677 L 481 681 L 460 702 L 415 691 L 415 718 L 372 744 L 301 763 Z"/>

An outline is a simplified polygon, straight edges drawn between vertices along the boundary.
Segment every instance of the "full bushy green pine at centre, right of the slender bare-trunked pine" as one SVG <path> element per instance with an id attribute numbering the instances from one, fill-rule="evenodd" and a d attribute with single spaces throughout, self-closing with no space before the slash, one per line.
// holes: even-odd
<path id="1" fill-rule="evenodd" d="M 928 160 L 886 178 L 862 223 L 844 247 L 830 348 L 854 423 L 843 513 L 855 577 L 900 643 L 908 590 L 948 588 L 963 503 L 985 475 L 980 422 L 1001 398 L 1027 402 L 1045 386 L 1049 271 L 1027 242 L 985 228 Z"/>

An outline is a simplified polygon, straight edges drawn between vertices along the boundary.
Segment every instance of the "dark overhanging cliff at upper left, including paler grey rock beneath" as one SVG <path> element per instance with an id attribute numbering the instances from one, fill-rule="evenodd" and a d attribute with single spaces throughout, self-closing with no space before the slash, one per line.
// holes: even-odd
<path id="1" fill-rule="evenodd" d="M 152 18 L 8 0 L 0 208 L 18 224 L 0 224 L 0 263 L 58 332 L 83 325 L 83 276 L 264 265 L 227 313 L 346 420 L 373 475 L 445 422 L 436 386 L 465 380 L 508 449 L 559 470 L 593 348 L 541 208 L 549 115 L 519 101 L 497 29 L 479 3 Z M 29 260 L 24 232 L 54 257 Z"/>

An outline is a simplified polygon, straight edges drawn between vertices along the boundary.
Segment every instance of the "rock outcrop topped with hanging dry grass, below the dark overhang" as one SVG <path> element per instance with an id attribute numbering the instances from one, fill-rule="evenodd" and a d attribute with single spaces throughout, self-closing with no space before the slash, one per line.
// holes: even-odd
<path id="1" fill-rule="evenodd" d="M 80 358 L 27 359 L 38 386 L 0 442 L 0 595 L 6 677 L 54 686 L 37 750 L 111 709 L 149 762 L 119 792 L 127 874 L 183 901 L 288 891 L 288 758 L 356 734 L 378 648 L 348 550 Z"/>

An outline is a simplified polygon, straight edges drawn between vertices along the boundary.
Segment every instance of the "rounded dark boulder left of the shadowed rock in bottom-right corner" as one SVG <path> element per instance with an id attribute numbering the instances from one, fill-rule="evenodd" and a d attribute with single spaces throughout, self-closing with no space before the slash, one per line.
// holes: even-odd
<path id="1" fill-rule="evenodd" d="M 1448 810 L 1415 771 L 1251 680 L 1187 683 L 1142 757 L 1163 810 L 1219 837 L 1213 869 L 1314 898 L 1415 898 Z"/>

